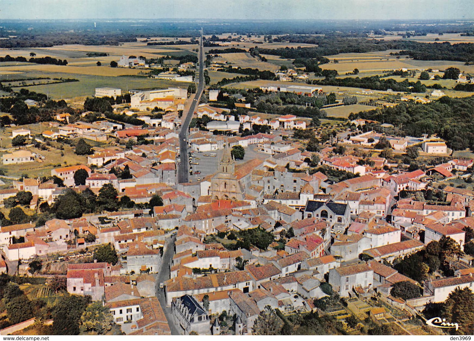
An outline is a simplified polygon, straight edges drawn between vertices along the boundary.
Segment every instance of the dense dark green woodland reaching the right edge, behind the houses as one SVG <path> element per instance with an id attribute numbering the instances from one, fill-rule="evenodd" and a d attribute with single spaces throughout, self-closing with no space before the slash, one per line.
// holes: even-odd
<path id="1" fill-rule="evenodd" d="M 362 118 L 401 127 L 405 136 L 437 134 L 449 148 L 474 151 L 474 96 L 441 97 L 427 104 L 401 103 L 393 108 L 350 114 L 349 120 Z"/>

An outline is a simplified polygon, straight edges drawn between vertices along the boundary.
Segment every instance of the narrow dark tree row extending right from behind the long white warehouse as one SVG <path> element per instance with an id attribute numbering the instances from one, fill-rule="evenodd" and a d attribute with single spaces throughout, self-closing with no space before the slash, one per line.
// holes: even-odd
<path id="1" fill-rule="evenodd" d="M 379 76 L 363 77 L 363 78 L 326 78 L 321 80 L 313 80 L 312 84 L 331 85 L 331 86 L 347 86 L 351 88 L 364 88 L 371 90 L 386 91 L 392 89 L 399 92 L 426 92 L 426 86 L 420 81 L 414 83 L 405 79 L 397 82 L 392 78 L 381 79 Z"/>

